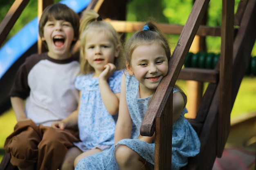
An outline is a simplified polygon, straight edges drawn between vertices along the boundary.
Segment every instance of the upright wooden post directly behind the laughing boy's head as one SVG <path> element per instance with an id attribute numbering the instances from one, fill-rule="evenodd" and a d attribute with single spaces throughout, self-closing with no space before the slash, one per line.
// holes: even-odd
<path id="1" fill-rule="evenodd" d="M 37 12 L 38 20 L 40 20 L 43 10 L 47 6 L 49 6 L 53 3 L 54 3 L 53 0 L 38 0 L 38 12 Z M 37 47 L 38 47 L 38 53 L 43 53 L 43 52 L 48 51 L 47 47 L 45 46 L 45 44 L 43 44 L 39 35 L 38 35 Z"/>

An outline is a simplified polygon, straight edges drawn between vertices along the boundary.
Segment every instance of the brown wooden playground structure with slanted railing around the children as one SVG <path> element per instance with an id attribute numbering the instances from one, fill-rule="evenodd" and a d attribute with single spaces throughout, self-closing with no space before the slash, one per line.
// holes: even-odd
<path id="1" fill-rule="evenodd" d="M 141 125 L 141 135 L 152 136 L 155 132 L 155 170 L 171 167 L 172 91 L 177 79 L 192 80 L 199 86 L 209 82 L 203 97 L 197 97 L 196 116 L 189 119 L 201 141 L 200 153 L 189 158 L 182 170 L 211 170 L 216 157 L 222 156 L 229 136 L 230 113 L 256 40 L 256 1 L 241 0 L 234 15 L 234 0 L 222 0 L 221 27 L 205 25 L 209 1 L 195 0 L 184 26 L 159 23 L 164 33 L 177 34 L 180 38 L 169 61 L 168 75 L 160 82 Z M 28 2 L 16 0 L 13 3 L 10 11 L 14 12 L 9 11 L 0 24 L 0 44 Z M 38 16 L 52 3 L 53 0 L 38 0 Z M 92 0 L 86 10 L 98 11 L 118 32 L 128 33 L 137 31 L 143 23 L 126 21 L 127 3 L 128 0 Z M 183 68 L 195 36 L 200 42 L 207 36 L 221 37 L 220 57 L 215 68 Z M 45 50 L 38 40 L 38 52 Z M 199 46 L 199 51 L 204 50 L 204 45 Z M 198 93 L 202 93 L 200 88 Z M 4 170 L 10 169 L 8 159 L 5 160 Z"/>

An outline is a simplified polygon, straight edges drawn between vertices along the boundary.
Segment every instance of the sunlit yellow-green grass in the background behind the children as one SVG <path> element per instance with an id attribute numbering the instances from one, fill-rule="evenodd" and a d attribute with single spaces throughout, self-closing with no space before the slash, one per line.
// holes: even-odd
<path id="1" fill-rule="evenodd" d="M 186 82 L 177 81 L 177 84 L 186 92 Z M 244 77 L 231 112 L 231 119 L 256 111 L 256 77 Z M 4 141 L 13 131 L 16 124 L 15 114 L 12 109 L 0 115 L 0 161 L 4 155 Z"/>

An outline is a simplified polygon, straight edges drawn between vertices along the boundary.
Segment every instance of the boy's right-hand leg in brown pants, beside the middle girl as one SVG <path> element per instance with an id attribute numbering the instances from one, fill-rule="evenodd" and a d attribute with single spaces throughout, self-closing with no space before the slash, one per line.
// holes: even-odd
<path id="1" fill-rule="evenodd" d="M 73 142 L 79 141 L 73 134 L 66 130 L 39 126 L 43 138 L 38 145 L 37 170 L 56 170 L 61 165 L 67 148 L 73 147 Z"/>

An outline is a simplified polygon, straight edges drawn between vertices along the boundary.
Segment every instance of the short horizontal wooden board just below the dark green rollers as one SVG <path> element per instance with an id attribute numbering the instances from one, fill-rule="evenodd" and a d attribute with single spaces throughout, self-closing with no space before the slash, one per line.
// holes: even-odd
<path id="1" fill-rule="evenodd" d="M 219 81 L 219 72 L 203 68 L 183 68 L 178 79 L 217 83 Z"/>

